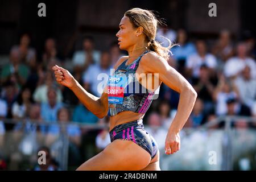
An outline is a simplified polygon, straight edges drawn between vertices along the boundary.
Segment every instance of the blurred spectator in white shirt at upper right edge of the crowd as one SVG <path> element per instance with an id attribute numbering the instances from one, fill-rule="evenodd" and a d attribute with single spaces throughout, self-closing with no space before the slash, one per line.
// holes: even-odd
<path id="1" fill-rule="evenodd" d="M 224 74 L 226 77 L 235 78 L 241 74 L 245 66 L 251 69 L 251 78 L 256 78 L 256 63 L 254 59 L 247 56 L 247 47 L 245 43 L 237 45 L 237 56 L 227 60 L 224 66 Z"/>

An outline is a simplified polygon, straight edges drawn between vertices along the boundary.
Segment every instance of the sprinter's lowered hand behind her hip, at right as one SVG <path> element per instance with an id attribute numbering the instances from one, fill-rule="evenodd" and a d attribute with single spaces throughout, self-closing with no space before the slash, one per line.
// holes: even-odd
<path id="1" fill-rule="evenodd" d="M 171 131 L 168 131 L 166 136 L 166 154 L 174 154 L 175 152 L 180 150 L 180 135 L 179 133 L 174 133 Z"/>

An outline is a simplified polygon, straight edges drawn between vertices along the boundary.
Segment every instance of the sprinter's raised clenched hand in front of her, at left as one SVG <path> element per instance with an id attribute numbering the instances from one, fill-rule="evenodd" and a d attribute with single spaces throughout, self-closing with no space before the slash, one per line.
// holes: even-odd
<path id="1" fill-rule="evenodd" d="M 56 81 L 68 88 L 72 88 L 75 85 L 75 78 L 67 71 L 67 69 L 61 68 L 58 65 L 52 67 L 52 70 L 55 71 Z"/>

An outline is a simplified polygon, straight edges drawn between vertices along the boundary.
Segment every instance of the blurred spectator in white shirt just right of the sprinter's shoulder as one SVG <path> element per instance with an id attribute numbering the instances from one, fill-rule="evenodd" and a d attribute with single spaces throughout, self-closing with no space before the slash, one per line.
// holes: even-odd
<path id="1" fill-rule="evenodd" d="M 216 57 L 207 53 L 207 45 L 204 40 L 197 40 L 196 42 L 197 53 L 188 57 L 185 63 L 187 69 L 187 76 L 199 78 L 200 67 L 205 64 L 209 68 L 210 75 L 213 75 L 217 67 Z"/>

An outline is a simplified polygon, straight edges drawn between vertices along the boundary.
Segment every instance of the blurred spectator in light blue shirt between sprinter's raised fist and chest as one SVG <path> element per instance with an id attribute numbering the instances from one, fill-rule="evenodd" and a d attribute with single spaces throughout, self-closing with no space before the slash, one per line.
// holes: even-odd
<path id="1" fill-rule="evenodd" d="M 105 75 L 100 75 L 105 73 Z M 84 72 L 82 80 L 85 90 L 89 90 L 100 97 L 110 75 L 110 56 L 108 52 L 102 52 L 100 64 L 92 64 Z M 104 77 L 103 77 L 104 76 Z"/>

